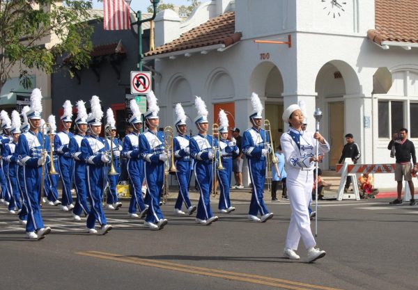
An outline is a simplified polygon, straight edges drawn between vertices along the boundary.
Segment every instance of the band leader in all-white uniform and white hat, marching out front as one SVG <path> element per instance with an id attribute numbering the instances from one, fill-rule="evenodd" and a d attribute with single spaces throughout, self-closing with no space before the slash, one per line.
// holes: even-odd
<path id="1" fill-rule="evenodd" d="M 286 164 L 286 187 L 291 202 L 291 223 L 289 224 L 284 256 L 300 259 L 296 254 L 300 238 L 308 250 L 308 261 L 315 261 L 325 256 L 325 251 L 314 248 L 316 241 L 311 232 L 308 205 L 314 184 L 314 168 L 318 162 L 316 154 L 317 140 L 321 153 L 330 151 L 330 145 L 318 132 L 302 130 L 303 113 L 300 106 L 288 106 L 282 116 L 283 122 L 291 128 L 280 138 Z"/>

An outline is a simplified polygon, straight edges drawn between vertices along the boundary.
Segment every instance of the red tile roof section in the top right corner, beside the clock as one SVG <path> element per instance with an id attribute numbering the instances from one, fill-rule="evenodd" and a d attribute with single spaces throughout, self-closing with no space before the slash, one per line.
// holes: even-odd
<path id="1" fill-rule="evenodd" d="M 375 0 L 376 29 L 367 36 L 380 45 L 383 41 L 418 43 L 417 0 Z"/>

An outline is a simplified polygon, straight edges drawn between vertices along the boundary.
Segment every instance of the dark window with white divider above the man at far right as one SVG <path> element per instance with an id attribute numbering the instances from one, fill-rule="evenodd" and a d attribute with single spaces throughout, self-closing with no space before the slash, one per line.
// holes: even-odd
<path id="1" fill-rule="evenodd" d="M 418 104 L 417 104 L 418 105 Z M 418 106 L 417 106 L 418 113 Z M 403 102 L 380 101 L 378 102 L 378 127 L 379 138 L 390 138 L 393 133 L 405 127 L 403 122 Z M 412 111 L 411 111 L 412 118 Z M 418 116 L 416 116 L 418 120 Z M 411 119 L 412 123 L 412 119 Z M 390 124 L 390 127 L 389 127 Z M 418 136 L 418 131 L 417 131 Z"/>

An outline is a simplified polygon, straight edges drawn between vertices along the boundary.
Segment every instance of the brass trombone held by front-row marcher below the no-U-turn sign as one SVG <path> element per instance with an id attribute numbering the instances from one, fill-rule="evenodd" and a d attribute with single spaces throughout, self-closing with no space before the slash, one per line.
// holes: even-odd
<path id="1" fill-rule="evenodd" d="M 176 165 L 174 164 L 173 138 L 173 128 L 170 126 L 164 127 L 164 152 L 169 159 L 164 162 L 163 204 L 166 204 L 169 198 L 169 173 L 177 172 Z"/>

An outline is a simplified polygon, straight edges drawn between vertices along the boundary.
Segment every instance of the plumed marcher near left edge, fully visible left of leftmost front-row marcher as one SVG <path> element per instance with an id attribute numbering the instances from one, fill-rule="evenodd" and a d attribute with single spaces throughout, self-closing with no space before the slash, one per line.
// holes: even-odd
<path id="1" fill-rule="evenodd" d="M 10 134 L 13 136 L 13 141 L 4 145 L 3 162 L 8 163 L 7 179 L 10 191 L 10 204 L 8 211 L 10 214 L 15 214 L 15 209 L 20 213 L 22 210 L 22 204 L 20 203 L 20 191 L 17 186 L 17 156 L 16 145 L 20 136 L 20 115 L 17 111 L 12 112 L 12 126 L 10 128 Z"/>

